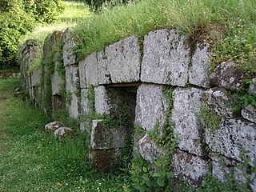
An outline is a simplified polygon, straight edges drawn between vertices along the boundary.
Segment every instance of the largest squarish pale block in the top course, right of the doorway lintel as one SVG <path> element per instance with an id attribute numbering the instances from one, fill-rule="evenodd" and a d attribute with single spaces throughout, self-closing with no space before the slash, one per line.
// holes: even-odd
<path id="1" fill-rule="evenodd" d="M 188 38 L 178 30 L 155 30 L 144 37 L 142 82 L 185 86 L 190 66 Z"/>

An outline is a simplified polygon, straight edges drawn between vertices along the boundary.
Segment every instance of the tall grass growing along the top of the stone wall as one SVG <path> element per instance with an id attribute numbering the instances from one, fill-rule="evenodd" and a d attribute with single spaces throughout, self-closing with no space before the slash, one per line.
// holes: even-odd
<path id="1" fill-rule="evenodd" d="M 106 9 L 87 18 L 74 29 L 78 39 L 78 59 L 102 50 L 130 35 L 142 36 L 150 30 L 177 27 L 184 34 L 218 39 L 230 33 L 232 25 L 255 27 L 254 0 L 141 0 Z M 232 30 L 232 29 L 231 29 Z M 207 39 L 209 42 L 210 39 Z M 216 42 L 216 39 L 213 43 Z M 255 44 L 253 39 L 249 44 Z M 236 42 L 234 42 L 236 43 Z M 232 44 L 232 42 L 231 42 Z M 243 50 L 242 50 L 243 51 Z"/>

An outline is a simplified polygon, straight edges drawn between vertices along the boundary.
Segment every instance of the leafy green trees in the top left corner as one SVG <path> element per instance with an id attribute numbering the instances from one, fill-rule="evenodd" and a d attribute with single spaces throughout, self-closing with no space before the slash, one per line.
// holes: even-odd
<path id="1" fill-rule="evenodd" d="M 0 1 L 0 70 L 18 67 L 18 46 L 39 22 L 54 22 L 64 6 L 61 0 Z"/>

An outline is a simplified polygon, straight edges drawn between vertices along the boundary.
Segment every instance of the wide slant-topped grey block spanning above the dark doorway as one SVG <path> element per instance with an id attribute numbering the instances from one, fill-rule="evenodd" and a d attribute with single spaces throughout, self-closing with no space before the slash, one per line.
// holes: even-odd
<path id="1" fill-rule="evenodd" d="M 137 37 L 131 36 L 106 46 L 105 54 L 110 82 L 138 82 L 140 80 L 141 62 Z M 104 61 L 102 62 L 101 66 L 104 71 Z"/>

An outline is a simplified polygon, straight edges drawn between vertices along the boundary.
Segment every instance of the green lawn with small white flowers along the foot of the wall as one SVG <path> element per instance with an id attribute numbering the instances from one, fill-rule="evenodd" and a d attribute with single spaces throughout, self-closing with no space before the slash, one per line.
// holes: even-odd
<path id="1" fill-rule="evenodd" d="M 13 98 L 17 85 L 0 81 L 0 191 L 122 191 L 126 177 L 90 170 L 84 135 L 58 141 L 43 131 L 51 119 Z"/>

